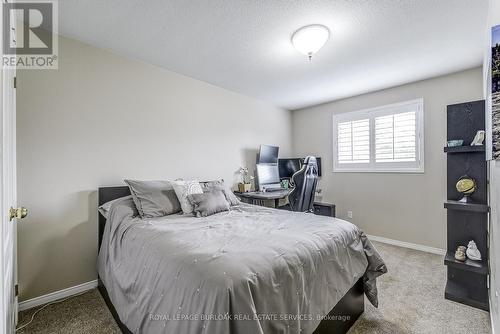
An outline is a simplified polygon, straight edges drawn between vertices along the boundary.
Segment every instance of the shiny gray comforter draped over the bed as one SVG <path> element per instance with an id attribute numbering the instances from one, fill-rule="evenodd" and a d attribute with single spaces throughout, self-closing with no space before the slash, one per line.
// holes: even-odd
<path id="1" fill-rule="evenodd" d="M 376 305 L 385 265 L 344 220 L 252 205 L 206 218 L 111 207 L 98 272 L 135 333 L 312 333 L 361 277 Z"/>

